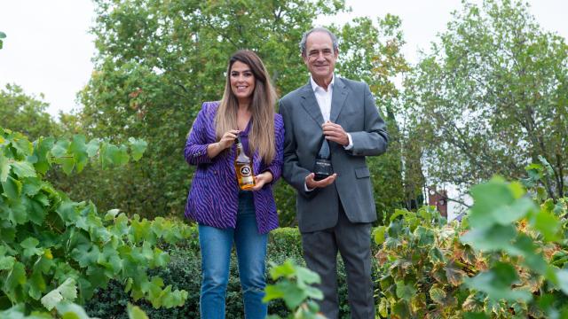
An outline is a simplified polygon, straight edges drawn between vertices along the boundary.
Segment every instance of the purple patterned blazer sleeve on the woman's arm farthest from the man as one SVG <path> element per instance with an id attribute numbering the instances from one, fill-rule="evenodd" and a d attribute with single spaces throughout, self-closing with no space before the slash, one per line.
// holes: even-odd
<path id="1" fill-rule="evenodd" d="M 207 103 L 201 105 L 201 111 L 197 114 L 197 118 L 193 121 L 192 129 L 187 136 L 185 142 L 185 161 L 189 165 L 199 165 L 203 163 L 210 163 L 209 155 L 207 155 L 207 146 L 210 144 L 207 139 L 207 129 L 209 128 L 209 121 L 213 117 L 209 110 Z"/>

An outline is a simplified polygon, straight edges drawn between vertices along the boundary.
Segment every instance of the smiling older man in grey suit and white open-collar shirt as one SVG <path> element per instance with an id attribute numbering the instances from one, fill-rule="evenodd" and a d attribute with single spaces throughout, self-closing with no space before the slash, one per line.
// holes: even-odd
<path id="1" fill-rule="evenodd" d="M 336 257 L 347 271 L 351 317 L 375 318 L 371 280 L 371 222 L 375 200 L 366 156 L 386 151 L 389 136 L 367 84 L 335 76 L 337 39 L 316 27 L 300 43 L 310 81 L 280 100 L 286 129 L 282 176 L 296 188 L 304 259 L 321 277 L 321 312 L 337 318 Z M 323 138 L 334 174 L 312 173 Z"/>

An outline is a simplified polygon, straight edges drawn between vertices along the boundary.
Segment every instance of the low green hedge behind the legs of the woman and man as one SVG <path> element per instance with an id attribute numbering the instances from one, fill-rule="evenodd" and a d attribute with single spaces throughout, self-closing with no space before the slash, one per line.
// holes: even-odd
<path id="1" fill-rule="evenodd" d="M 128 318 L 124 308 L 130 302 L 141 307 L 148 317 L 153 319 L 160 318 L 197 318 L 199 317 L 199 291 L 201 286 L 201 256 L 199 253 L 199 241 L 196 228 L 193 228 L 193 235 L 189 234 L 188 239 L 170 246 L 170 264 L 167 268 L 157 269 L 152 275 L 163 278 L 164 282 L 170 283 L 173 289 L 184 289 L 188 292 L 187 300 L 183 307 L 170 309 L 154 309 L 152 305 L 144 300 L 131 300 L 128 293 L 123 291 L 123 284 L 111 282 L 106 289 L 99 289 L 95 296 L 85 305 L 87 313 L 91 316 L 100 318 Z M 273 230 L 269 237 L 267 250 L 267 263 L 272 261 L 282 264 L 287 259 L 295 261 L 298 265 L 305 266 L 302 257 L 300 233 L 294 228 L 281 228 Z M 349 303 L 347 300 L 347 286 L 345 282 L 345 270 L 343 261 L 338 258 L 338 287 L 340 317 L 350 317 Z M 267 278 L 268 267 L 267 267 Z M 274 284 L 271 279 L 267 279 L 268 284 Z M 241 284 L 237 269 L 236 255 L 233 253 L 229 284 L 227 286 L 226 298 L 226 318 L 243 318 L 244 306 L 242 304 Z M 288 315 L 288 309 L 282 300 L 274 300 L 270 303 L 268 312 L 271 315 Z"/>

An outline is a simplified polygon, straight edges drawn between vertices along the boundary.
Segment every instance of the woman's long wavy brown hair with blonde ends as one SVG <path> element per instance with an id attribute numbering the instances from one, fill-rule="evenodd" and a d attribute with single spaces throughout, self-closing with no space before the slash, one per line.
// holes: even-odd
<path id="1" fill-rule="evenodd" d="M 274 106 L 277 97 L 263 61 L 253 51 L 236 51 L 229 59 L 225 93 L 215 116 L 217 141 L 221 140 L 226 131 L 238 129 L 237 111 L 239 109 L 239 101 L 231 89 L 231 68 L 236 61 L 249 66 L 250 71 L 255 76 L 255 89 L 250 99 L 250 105 L 248 105 L 250 113 L 252 113 L 248 144 L 250 152 L 254 153 L 257 151 L 264 163 L 268 164 L 272 162 L 276 155 L 274 144 Z"/>

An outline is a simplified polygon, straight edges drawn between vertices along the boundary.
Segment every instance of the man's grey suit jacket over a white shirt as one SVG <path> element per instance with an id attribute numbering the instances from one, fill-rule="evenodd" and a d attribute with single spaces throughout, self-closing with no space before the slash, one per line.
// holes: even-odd
<path id="1" fill-rule="evenodd" d="M 305 176 L 312 172 L 323 139 L 323 117 L 310 82 L 280 99 L 280 114 L 285 127 L 282 176 L 297 191 L 300 231 L 335 226 L 338 199 L 351 222 L 375 222 L 375 199 L 365 157 L 385 152 L 389 135 L 368 85 L 335 76 L 329 120 L 351 134 L 353 148 L 345 151 L 342 145 L 329 143 L 337 179 L 326 188 L 304 189 Z"/>

